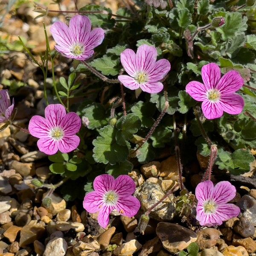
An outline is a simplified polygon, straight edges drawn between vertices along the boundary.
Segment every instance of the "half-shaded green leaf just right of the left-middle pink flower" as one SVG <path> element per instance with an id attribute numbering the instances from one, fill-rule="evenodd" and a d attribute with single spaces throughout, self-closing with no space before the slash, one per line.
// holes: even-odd
<path id="1" fill-rule="evenodd" d="M 108 114 L 100 103 L 87 105 L 81 110 L 81 114 L 89 119 L 89 129 L 101 128 L 108 124 Z"/>

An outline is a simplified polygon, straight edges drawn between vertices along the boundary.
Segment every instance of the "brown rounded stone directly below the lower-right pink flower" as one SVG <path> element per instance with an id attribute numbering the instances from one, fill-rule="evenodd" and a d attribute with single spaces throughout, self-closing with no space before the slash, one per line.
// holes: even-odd
<path id="1" fill-rule="evenodd" d="M 198 244 L 200 250 L 210 248 L 217 243 L 217 239 L 220 238 L 221 232 L 215 228 L 206 228 L 197 233 L 198 239 L 196 243 Z"/>

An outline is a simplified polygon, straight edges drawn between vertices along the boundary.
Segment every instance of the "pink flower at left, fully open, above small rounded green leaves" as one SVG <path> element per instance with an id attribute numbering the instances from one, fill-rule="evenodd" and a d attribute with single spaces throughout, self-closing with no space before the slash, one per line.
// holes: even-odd
<path id="1" fill-rule="evenodd" d="M 33 116 L 29 121 L 29 132 L 40 138 L 38 148 L 45 154 L 55 154 L 73 151 L 79 145 L 77 135 L 81 127 L 79 116 L 70 112 L 66 114 L 61 104 L 50 104 L 45 108 L 45 118 Z"/>

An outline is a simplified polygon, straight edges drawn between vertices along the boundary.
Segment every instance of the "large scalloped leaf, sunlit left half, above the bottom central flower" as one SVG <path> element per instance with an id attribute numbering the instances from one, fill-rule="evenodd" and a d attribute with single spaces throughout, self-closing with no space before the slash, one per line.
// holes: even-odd
<path id="1" fill-rule="evenodd" d="M 99 130 L 99 136 L 93 140 L 93 158 L 97 163 L 124 162 L 129 154 L 128 147 L 118 145 L 115 140 L 116 129 L 107 125 Z"/>

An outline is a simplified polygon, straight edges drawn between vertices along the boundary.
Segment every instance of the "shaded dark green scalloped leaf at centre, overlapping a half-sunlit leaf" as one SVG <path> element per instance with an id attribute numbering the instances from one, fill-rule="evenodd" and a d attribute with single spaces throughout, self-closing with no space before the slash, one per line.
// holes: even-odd
<path id="1" fill-rule="evenodd" d="M 140 118 L 135 113 L 122 116 L 116 122 L 116 142 L 119 145 L 126 145 L 125 140 L 131 140 L 141 126 Z"/>

